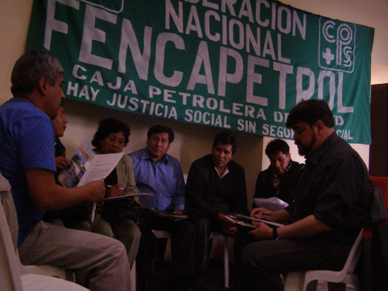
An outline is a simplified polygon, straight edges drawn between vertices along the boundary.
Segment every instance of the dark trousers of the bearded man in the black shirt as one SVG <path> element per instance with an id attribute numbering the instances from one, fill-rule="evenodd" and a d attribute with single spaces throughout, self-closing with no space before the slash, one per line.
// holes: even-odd
<path id="1" fill-rule="evenodd" d="M 262 240 L 248 244 L 241 255 L 244 290 L 283 290 L 280 274 L 289 271 L 333 270 L 344 266 L 352 244 L 305 238 Z"/>

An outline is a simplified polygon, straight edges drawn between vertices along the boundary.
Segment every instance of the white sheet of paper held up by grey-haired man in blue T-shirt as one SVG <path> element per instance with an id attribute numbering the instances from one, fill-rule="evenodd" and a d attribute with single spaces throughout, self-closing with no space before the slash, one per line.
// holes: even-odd
<path id="1" fill-rule="evenodd" d="M 111 171 L 113 171 L 113 169 L 117 166 L 117 163 L 119 163 L 124 154 L 124 152 L 119 154 L 95 154 L 90 166 L 87 168 L 78 183 L 78 187 L 83 186 L 88 182 L 104 180 L 107 178 L 109 173 L 111 173 Z"/>

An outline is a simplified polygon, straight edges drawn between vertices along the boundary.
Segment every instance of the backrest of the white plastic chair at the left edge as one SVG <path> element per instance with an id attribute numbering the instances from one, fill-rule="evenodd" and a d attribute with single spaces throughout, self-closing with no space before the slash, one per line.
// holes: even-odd
<path id="1" fill-rule="evenodd" d="M 5 180 L 5 182 L 4 182 Z M 8 181 L 0 174 L 0 185 L 9 186 Z M 11 186 L 8 189 L 0 188 L 0 282 L 2 291 L 23 291 L 20 280 L 19 266 L 16 259 L 16 250 L 13 245 L 11 233 L 8 228 L 6 214 L 4 213 L 3 203 L 7 199 L 12 199 Z"/>

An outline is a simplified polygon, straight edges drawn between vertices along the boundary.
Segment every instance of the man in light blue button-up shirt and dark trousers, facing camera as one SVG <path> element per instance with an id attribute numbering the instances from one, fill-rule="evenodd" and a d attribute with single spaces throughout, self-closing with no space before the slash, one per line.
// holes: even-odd
<path id="1" fill-rule="evenodd" d="M 129 154 L 133 159 L 136 186 L 139 192 L 154 194 L 154 197 L 140 197 L 140 203 L 147 209 L 170 211 L 183 214 L 185 208 L 185 182 L 179 161 L 167 154 L 174 132 L 163 125 L 154 125 L 147 132 L 145 149 Z M 152 229 L 168 230 L 171 233 L 172 265 L 169 290 L 190 290 L 193 278 L 194 226 L 190 221 L 171 218 L 139 218 L 142 232 L 138 252 L 139 290 L 151 290 L 152 261 L 156 238 Z"/>

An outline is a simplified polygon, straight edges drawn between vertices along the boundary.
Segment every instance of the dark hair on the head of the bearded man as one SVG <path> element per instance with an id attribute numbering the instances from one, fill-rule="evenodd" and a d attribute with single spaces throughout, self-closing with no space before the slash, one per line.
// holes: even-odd
<path id="1" fill-rule="evenodd" d="M 293 128 L 297 123 L 308 123 L 313 128 L 318 120 L 327 128 L 334 128 L 334 116 L 329 105 L 323 100 L 309 99 L 299 102 L 291 109 L 286 127 Z"/>

